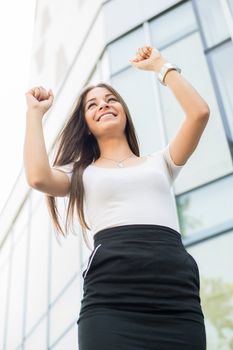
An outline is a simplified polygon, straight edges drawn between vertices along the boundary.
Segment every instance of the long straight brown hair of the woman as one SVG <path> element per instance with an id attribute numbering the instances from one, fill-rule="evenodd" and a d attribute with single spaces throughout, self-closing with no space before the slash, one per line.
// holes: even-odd
<path id="1" fill-rule="evenodd" d="M 73 221 L 74 208 L 76 208 L 79 223 L 83 232 L 83 238 L 90 250 L 92 248 L 88 243 L 86 234 L 86 229 L 90 230 L 90 227 L 86 223 L 83 210 L 84 186 L 82 175 L 86 167 L 99 158 L 100 150 L 94 135 L 88 134 L 89 130 L 84 117 L 84 103 L 88 92 L 96 87 L 102 87 L 109 90 L 116 96 L 118 101 L 123 106 L 124 112 L 126 114 L 125 134 L 129 147 L 135 155 L 140 156 L 140 150 L 133 121 L 129 109 L 120 94 L 112 86 L 106 83 L 99 83 L 85 87 L 80 93 L 76 106 L 74 107 L 71 116 L 68 118 L 66 125 L 58 137 L 58 149 L 53 161 L 53 166 L 61 166 L 73 163 L 73 173 L 71 177 L 69 203 L 66 213 L 65 231 L 67 233 L 68 224 L 70 224 L 71 220 Z M 57 233 L 61 233 L 63 236 L 65 236 L 58 220 L 59 213 L 56 197 L 46 195 L 46 202 L 52 223 Z"/>

